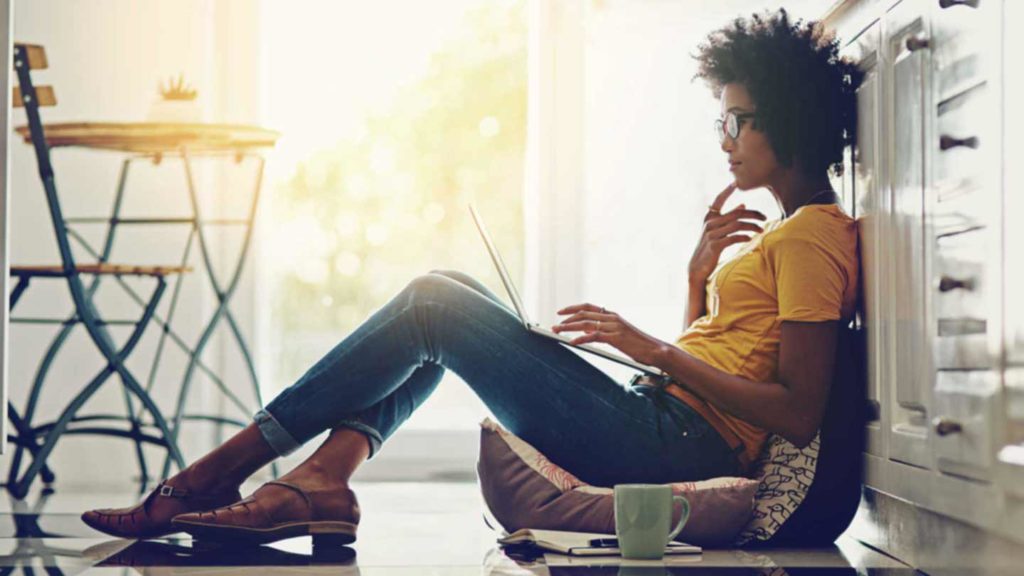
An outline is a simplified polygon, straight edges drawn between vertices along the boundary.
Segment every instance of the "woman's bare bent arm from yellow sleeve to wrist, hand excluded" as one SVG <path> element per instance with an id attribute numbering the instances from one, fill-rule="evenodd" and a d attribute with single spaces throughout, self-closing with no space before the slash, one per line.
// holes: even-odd
<path id="1" fill-rule="evenodd" d="M 662 347 L 654 366 L 709 403 L 803 448 L 821 425 L 838 337 L 836 321 L 782 322 L 777 382 L 734 376 L 672 344 Z"/>

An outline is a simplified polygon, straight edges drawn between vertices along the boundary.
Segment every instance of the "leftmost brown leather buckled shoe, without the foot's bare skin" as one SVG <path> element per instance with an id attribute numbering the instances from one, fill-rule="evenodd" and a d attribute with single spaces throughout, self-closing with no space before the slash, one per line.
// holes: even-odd
<path id="1" fill-rule="evenodd" d="M 164 519 L 154 519 L 152 507 L 158 498 L 173 500 L 176 509 L 162 515 Z M 82 515 L 82 522 L 104 534 L 119 538 L 159 538 L 178 531 L 171 526 L 171 520 L 181 513 L 208 510 L 237 502 L 242 498 L 238 490 L 215 494 L 198 494 L 184 488 L 175 488 L 163 481 L 142 500 L 128 508 L 100 508 Z M 161 500 L 163 502 L 163 500 Z"/>

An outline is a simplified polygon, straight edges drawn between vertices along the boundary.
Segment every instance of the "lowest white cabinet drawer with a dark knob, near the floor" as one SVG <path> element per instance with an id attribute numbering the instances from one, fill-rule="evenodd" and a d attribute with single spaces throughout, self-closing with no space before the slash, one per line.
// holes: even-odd
<path id="1" fill-rule="evenodd" d="M 937 373 L 932 434 L 940 470 L 989 478 L 995 454 L 992 426 L 999 421 L 999 405 L 997 372 Z"/>

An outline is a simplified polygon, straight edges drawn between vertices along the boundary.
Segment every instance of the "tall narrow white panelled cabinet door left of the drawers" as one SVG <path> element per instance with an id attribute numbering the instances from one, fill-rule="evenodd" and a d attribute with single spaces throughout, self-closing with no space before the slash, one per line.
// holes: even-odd
<path id="1" fill-rule="evenodd" d="M 888 294 L 893 363 L 889 457 L 927 467 L 932 358 L 928 339 L 928 234 L 925 229 L 927 146 L 930 136 L 931 50 L 921 1 L 904 1 L 886 13 L 884 37 L 889 66 L 885 150 L 890 160 L 891 211 L 883 218 L 890 248 Z"/>

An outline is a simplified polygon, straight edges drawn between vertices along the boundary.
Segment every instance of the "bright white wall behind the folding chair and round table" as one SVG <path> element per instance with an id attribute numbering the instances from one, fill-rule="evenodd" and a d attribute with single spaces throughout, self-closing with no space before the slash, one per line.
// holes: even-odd
<path id="1" fill-rule="evenodd" d="M 257 122 L 259 14 L 255 2 L 244 0 L 182 0 L 176 2 L 136 2 L 133 0 L 32 0 L 17 2 L 14 9 L 14 38 L 19 42 L 42 44 L 49 58 L 49 70 L 34 73 L 37 84 L 50 84 L 56 90 L 58 106 L 43 109 L 43 121 L 116 121 L 143 120 L 151 102 L 158 96 L 157 86 L 170 76 L 183 73 L 199 91 L 204 116 L 210 121 Z M 24 112 L 12 115 L 12 124 L 25 123 Z M 54 263 L 58 255 L 52 228 L 46 212 L 45 198 L 31 147 L 16 136 L 9 136 L 11 159 L 10 255 L 12 263 Z M 66 215 L 106 215 L 113 199 L 121 155 L 62 149 L 52 154 L 57 188 Z M 197 175 L 207 215 L 234 215 L 246 188 L 232 186 L 243 178 L 239 168 L 220 169 L 204 162 Z M 251 174 L 245 176 L 249 181 Z M 230 191 L 230 195 L 218 194 Z M 165 160 L 161 165 L 136 163 L 129 174 L 124 204 L 125 216 L 188 215 L 184 172 L 179 161 Z M 101 240 L 102 228 L 82 228 L 95 243 Z M 113 261 L 131 263 L 176 263 L 180 258 L 186 231 L 184 228 L 125 228 L 118 235 Z M 218 257 L 229 261 L 234 237 L 225 235 L 216 244 Z M 84 252 L 79 252 L 80 257 Z M 200 260 L 194 250 L 193 265 Z M 85 260 L 85 258 L 83 258 Z M 251 263 L 251 262 L 250 262 Z M 247 275 L 251 276 L 251 275 Z M 152 282 L 134 284 L 148 290 Z M 123 292 L 108 280 L 100 291 L 100 308 L 111 317 L 133 318 L 138 307 L 123 297 Z M 170 302 L 168 289 L 161 305 L 166 314 Z M 147 292 L 146 292 L 147 293 Z M 233 300 L 233 310 L 243 325 L 252 318 L 252 283 L 244 282 Z M 65 315 L 71 308 L 68 291 L 59 281 L 37 280 L 23 296 L 14 318 L 24 316 Z M 175 328 L 186 340 L 195 341 L 201 320 L 209 317 L 212 292 L 206 278 L 197 271 L 185 278 Z M 126 303 L 129 302 L 129 303 Z M 224 325 L 226 326 L 226 325 Z M 135 375 L 145 380 L 159 332 L 152 325 L 142 342 L 129 359 Z M 247 328 L 248 329 L 248 328 Z M 10 333 L 10 395 L 24 406 L 40 355 L 54 333 L 52 326 L 14 325 Z M 116 338 L 127 329 L 115 329 Z M 225 331 L 226 332 L 226 331 Z M 220 338 L 222 339 L 222 338 Z M 218 339 L 219 340 L 219 339 Z M 207 348 L 207 362 L 226 369 L 226 380 L 249 399 L 248 380 L 234 356 L 220 355 L 222 342 L 215 340 Z M 223 357 L 223 359 L 221 359 Z M 168 342 L 155 397 L 166 412 L 173 409 L 175 393 L 186 364 L 185 356 Z M 95 374 L 101 363 L 99 355 L 78 328 L 50 373 L 44 388 L 39 419 L 56 417 L 63 404 Z M 191 405 L 204 411 L 216 411 L 220 402 L 213 386 L 197 377 Z M 84 412 L 124 413 L 121 386 L 110 380 Z M 241 414 L 233 414 L 242 416 Z M 202 424 L 187 426 L 182 438 L 187 457 L 209 448 L 212 436 Z M 163 451 L 153 449 L 151 462 L 160 471 Z M 8 454 L 3 457 L 6 474 Z M 97 437 L 66 437 L 58 444 L 51 464 L 58 486 L 81 483 L 123 483 L 137 474 L 133 450 L 127 441 Z"/>

